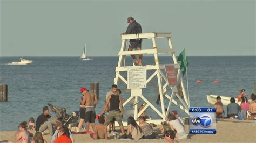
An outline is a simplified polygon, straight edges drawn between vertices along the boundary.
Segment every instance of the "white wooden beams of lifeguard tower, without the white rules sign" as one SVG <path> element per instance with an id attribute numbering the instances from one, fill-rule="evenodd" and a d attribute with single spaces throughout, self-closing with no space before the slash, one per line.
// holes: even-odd
<path id="1" fill-rule="evenodd" d="M 156 45 L 157 38 L 167 38 L 169 48 L 161 49 L 157 47 Z M 126 51 L 126 42 L 127 40 L 130 40 L 130 39 L 152 39 L 153 48 L 142 49 L 140 51 Z M 178 94 L 176 86 L 170 86 L 171 95 L 168 95 L 166 93 L 167 88 L 169 87 L 169 84 L 168 84 L 166 75 L 160 70 L 160 69 L 165 69 L 165 65 L 160 65 L 158 60 L 158 54 L 166 54 L 166 53 L 171 54 L 173 63 L 174 63 L 174 68 L 178 69 L 177 81 L 181 83 L 181 88 L 182 88 L 184 98 L 181 98 L 181 96 Z M 177 62 L 174 48 L 172 47 L 171 33 L 140 33 L 139 35 L 138 34 L 122 35 L 122 46 L 121 46 L 120 52 L 118 53 L 119 60 L 118 60 L 118 65 L 116 67 L 116 77 L 114 78 L 114 84 L 118 85 L 119 80 L 123 81 L 126 85 L 128 84 L 126 78 L 123 77 L 120 74 L 120 72 L 127 71 L 127 74 L 128 74 L 128 69 L 131 67 L 134 67 L 134 65 L 125 66 L 125 56 L 126 55 L 130 56 L 131 54 L 153 54 L 154 55 L 155 65 L 136 66 L 136 67 L 146 67 L 146 70 L 155 70 L 154 73 L 149 78 L 146 79 L 146 84 L 148 84 L 154 76 L 157 76 L 158 90 L 159 90 L 158 93 L 160 95 L 160 104 L 161 104 L 161 111 L 159 111 L 147 98 L 145 98 L 145 96 L 142 95 L 142 88 L 131 89 L 131 96 L 123 103 L 124 108 L 125 108 L 125 105 L 131 102 L 133 98 L 135 103 L 136 102 L 138 103 L 138 97 L 142 98 L 142 100 L 145 103 L 147 103 L 145 108 L 143 108 L 143 110 L 140 111 L 139 113 L 137 112 L 138 104 L 134 105 L 134 111 L 132 111 L 134 112 L 134 119 L 137 119 L 150 106 L 161 118 L 163 118 L 163 120 L 166 120 L 168 117 L 171 103 L 176 104 L 177 106 L 180 107 L 181 110 L 185 111 L 188 114 L 188 108 L 190 106 L 190 102 L 184 88 L 182 77 L 180 76 L 180 73 L 181 73 L 180 66 Z M 164 79 L 164 84 L 162 84 L 162 81 L 163 81 L 162 79 Z M 166 107 L 164 105 L 164 96 L 167 99 L 169 99 L 169 105 L 167 107 L 167 111 L 165 111 Z M 174 96 L 178 97 L 182 105 L 179 104 L 175 99 L 173 99 Z M 151 120 L 148 122 L 159 124 L 160 121 L 163 121 L 163 120 Z"/>

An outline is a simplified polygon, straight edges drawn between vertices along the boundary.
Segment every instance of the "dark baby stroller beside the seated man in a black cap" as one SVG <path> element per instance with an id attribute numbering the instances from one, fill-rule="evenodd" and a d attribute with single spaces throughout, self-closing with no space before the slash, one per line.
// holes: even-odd
<path id="1" fill-rule="evenodd" d="M 72 112 L 71 115 L 66 113 L 66 108 L 58 108 L 57 106 L 53 106 L 52 104 L 48 103 L 51 111 L 55 113 L 58 120 L 62 122 L 65 127 L 71 128 L 78 125 L 79 113 Z"/>

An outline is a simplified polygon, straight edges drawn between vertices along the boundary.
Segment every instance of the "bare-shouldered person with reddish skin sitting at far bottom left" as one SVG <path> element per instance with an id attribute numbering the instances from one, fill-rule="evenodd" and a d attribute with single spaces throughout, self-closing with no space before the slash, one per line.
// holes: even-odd
<path id="1" fill-rule="evenodd" d="M 26 121 L 23 121 L 21 124 L 19 124 L 18 126 L 19 130 L 15 133 L 15 142 L 24 142 L 24 143 L 30 142 L 29 133 L 28 131 L 26 131 L 26 128 L 28 126 L 26 125 L 27 125 Z"/>

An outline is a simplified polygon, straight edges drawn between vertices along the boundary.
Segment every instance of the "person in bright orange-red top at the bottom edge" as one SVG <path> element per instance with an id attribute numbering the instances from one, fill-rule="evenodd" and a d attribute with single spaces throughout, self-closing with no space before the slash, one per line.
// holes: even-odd
<path id="1" fill-rule="evenodd" d="M 58 138 L 54 141 L 54 143 L 72 143 L 72 140 L 70 139 L 69 136 L 69 129 L 67 127 L 60 127 L 59 128 L 59 133 L 58 133 Z"/>

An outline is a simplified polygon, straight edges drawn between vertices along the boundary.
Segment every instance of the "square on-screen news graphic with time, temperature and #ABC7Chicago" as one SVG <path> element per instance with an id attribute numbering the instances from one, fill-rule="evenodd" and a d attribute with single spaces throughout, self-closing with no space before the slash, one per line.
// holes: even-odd
<path id="1" fill-rule="evenodd" d="M 190 108 L 190 134 L 216 134 L 216 108 Z"/>

